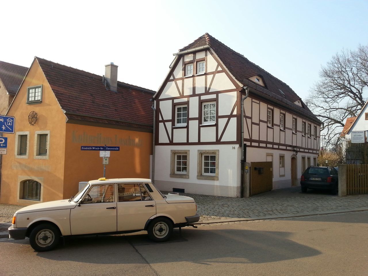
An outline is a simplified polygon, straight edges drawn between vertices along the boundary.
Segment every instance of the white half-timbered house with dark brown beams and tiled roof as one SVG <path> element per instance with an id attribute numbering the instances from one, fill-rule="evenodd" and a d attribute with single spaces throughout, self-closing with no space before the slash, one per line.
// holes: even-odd
<path id="1" fill-rule="evenodd" d="M 316 165 L 321 121 L 288 85 L 208 33 L 174 57 L 154 96 L 160 189 L 240 196 L 242 140 L 246 162 L 272 162 L 273 189 Z"/>

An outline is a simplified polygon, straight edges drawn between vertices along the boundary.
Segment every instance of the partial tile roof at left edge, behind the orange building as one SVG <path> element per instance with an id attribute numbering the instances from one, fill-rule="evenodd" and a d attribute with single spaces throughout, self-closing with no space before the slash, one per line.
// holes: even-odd
<path id="1" fill-rule="evenodd" d="M 16 94 L 28 67 L 0 61 L 0 79 L 9 94 Z"/>

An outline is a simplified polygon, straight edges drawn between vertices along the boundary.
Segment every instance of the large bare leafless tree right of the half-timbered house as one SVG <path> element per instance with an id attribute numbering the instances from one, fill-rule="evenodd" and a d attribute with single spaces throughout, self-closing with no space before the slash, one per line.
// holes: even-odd
<path id="1" fill-rule="evenodd" d="M 319 77 L 305 102 L 322 121 L 323 146 L 333 148 L 346 118 L 357 116 L 367 101 L 368 45 L 335 54 L 321 67 Z"/>

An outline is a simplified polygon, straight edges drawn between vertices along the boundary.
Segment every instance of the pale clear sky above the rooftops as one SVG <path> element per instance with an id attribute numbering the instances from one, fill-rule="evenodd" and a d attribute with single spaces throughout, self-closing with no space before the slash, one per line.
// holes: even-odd
<path id="1" fill-rule="evenodd" d="M 368 44 L 366 1 L 2 1 L 0 60 L 38 56 L 157 90 L 173 53 L 208 32 L 302 99 L 321 65 Z"/>

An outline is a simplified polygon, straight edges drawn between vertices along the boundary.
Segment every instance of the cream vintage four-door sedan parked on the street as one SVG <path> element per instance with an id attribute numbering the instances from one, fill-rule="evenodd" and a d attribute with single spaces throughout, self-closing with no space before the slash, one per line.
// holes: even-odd
<path id="1" fill-rule="evenodd" d="M 36 251 L 52 250 L 61 236 L 122 234 L 146 230 L 156 242 L 167 241 L 174 227 L 198 222 L 193 198 L 163 195 L 150 179 L 89 181 L 71 199 L 24 207 L 15 212 L 9 236 L 29 237 Z"/>

